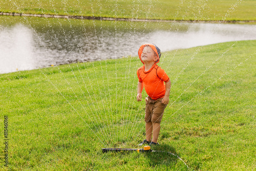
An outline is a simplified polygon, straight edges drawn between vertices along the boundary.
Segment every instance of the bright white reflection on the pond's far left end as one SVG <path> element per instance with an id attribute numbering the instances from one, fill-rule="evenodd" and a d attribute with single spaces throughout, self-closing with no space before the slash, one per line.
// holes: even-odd
<path id="1" fill-rule="evenodd" d="M 0 73 L 35 68 L 34 39 L 28 27 L 18 24 L 5 28 L 0 32 L 0 40 Z"/>

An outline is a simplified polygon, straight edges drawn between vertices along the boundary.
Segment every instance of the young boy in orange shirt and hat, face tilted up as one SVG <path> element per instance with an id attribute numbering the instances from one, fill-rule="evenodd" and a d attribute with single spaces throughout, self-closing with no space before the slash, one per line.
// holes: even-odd
<path id="1" fill-rule="evenodd" d="M 137 70 L 139 79 L 137 101 L 141 101 L 141 92 L 144 87 L 148 95 L 145 100 L 146 139 L 139 145 L 157 145 L 160 123 L 164 109 L 169 103 L 171 83 L 164 70 L 156 65 L 161 56 L 161 51 L 156 45 L 144 44 L 140 47 L 138 54 L 144 65 Z"/>

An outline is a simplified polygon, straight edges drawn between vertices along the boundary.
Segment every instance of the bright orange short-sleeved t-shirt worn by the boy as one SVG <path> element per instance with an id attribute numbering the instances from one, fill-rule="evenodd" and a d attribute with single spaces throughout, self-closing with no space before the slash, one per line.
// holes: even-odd
<path id="1" fill-rule="evenodd" d="M 137 75 L 139 82 L 143 82 L 148 96 L 153 100 L 164 97 L 164 82 L 169 81 L 169 77 L 161 67 L 158 67 L 158 65 L 155 64 L 150 70 L 145 72 L 145 66 L 142 66 L 137 70 Z"/>

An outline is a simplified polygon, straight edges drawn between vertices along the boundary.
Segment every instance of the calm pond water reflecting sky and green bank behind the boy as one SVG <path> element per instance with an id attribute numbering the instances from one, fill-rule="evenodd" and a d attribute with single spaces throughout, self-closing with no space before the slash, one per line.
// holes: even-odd
<path id="1" fill-rule="evenodd" d="M 0 73 L 256 39 L 256 25 L 150 23 L 0 16 Z"/>

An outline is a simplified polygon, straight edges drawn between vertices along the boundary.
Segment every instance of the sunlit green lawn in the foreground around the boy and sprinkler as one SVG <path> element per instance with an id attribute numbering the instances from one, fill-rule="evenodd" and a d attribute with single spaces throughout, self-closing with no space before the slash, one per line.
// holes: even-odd
<path id="1" fill-rule="evenodd" d="M 255 46 L 225 42 L 162 54 L 172 89 L 155 150 L 179 156 L 189 170 L 255 169 Z M 145 138 L 144 101 L 136 101 L 141 65 L 127 57 L 1 74 L 8 168 L 187 170 L 165 153 L 101 153 L 137 148 Z M 8 170 L 3 148 L 0 168 Z"/>

